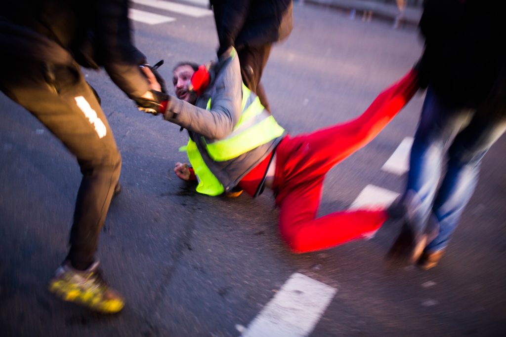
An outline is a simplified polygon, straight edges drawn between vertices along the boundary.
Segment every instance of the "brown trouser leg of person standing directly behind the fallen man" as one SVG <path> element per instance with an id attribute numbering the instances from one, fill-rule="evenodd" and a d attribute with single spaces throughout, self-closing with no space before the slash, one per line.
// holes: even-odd
<path id="1" fill-rule="evenodd" d="M 260 83 L 262 72 L 269 59 L 272 43 L 264 44 L 260 47 L 243 47 L 237 52 L 239 63 L 241 65 L 241 76 L 244 84 L 257 94 L 260 103 L 267 111 L 271 111 L 264 86 Z"/>

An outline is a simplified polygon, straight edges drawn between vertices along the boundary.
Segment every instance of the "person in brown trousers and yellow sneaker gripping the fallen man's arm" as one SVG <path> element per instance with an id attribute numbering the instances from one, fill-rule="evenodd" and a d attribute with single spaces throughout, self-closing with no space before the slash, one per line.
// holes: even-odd
<path id="1" fill-rule="evenodd" d="M 50 291 L 104 313 L 123 307 L 95 259 L 111 198 L 119 191 L 121 157 L 79 64 L 104 66 L 138 106 L 158 104 L 139 68 L 145 57 L 132 44 L 127 14 L 127 0 L 17 0 L 0 16 L 0 88 L 63 142 L 82 173 L 70 251 Z"/>

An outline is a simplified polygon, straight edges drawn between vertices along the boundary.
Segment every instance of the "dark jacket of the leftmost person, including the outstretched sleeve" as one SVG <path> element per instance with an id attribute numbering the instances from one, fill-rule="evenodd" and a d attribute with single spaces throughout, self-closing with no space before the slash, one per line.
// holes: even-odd
<path id="1" fill-rule="evenodd" d="M 130 98 L 148 89 L 132 43 L 128 0 L 13 0 L 0 17 L 0 56 L 103 66 Z"/>

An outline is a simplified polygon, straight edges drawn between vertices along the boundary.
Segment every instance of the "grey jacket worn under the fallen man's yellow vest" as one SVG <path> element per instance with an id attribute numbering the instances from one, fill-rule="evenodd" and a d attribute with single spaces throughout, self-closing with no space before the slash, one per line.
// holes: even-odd
<path id="1" fill-rule="evenodd" d="M 230 54 L 234 56 L 230 56 Z M 264 160 L 278 145 L 284 134 L 237 158 L 216 162 L 205 150 L 202 140 L 216 140 L 229 135 L 241 116 L 242 82 L 239 59 L 232 47 L 209 69 L 211 81 L 195 105 L 171 96 L 167 109 L 174 113 L 171 122 L 186 129 L 195 141 L 205 164 L 230 191 L 251 169 Z M 254 95 L 254 93 L 251 93 Z M 207 102 L 211 99 L 210 110 Z"/>

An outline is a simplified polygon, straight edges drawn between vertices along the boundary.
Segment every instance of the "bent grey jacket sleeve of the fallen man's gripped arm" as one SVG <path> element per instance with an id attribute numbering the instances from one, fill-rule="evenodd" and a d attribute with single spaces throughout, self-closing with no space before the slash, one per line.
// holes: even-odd
<path id="1" fill-rule="evenodd" d="M 196 107 L 172 96 L 167 107 L 174 113 L 171 122 L 208 139 L 226 137 L 241 117 L 242 84 L 239 60 L 236 55 L 230 56 L 220 61 L 218 67 L 213 82 L 203 93 L 203 95 L 210 93 L 210 110 Z"/>

